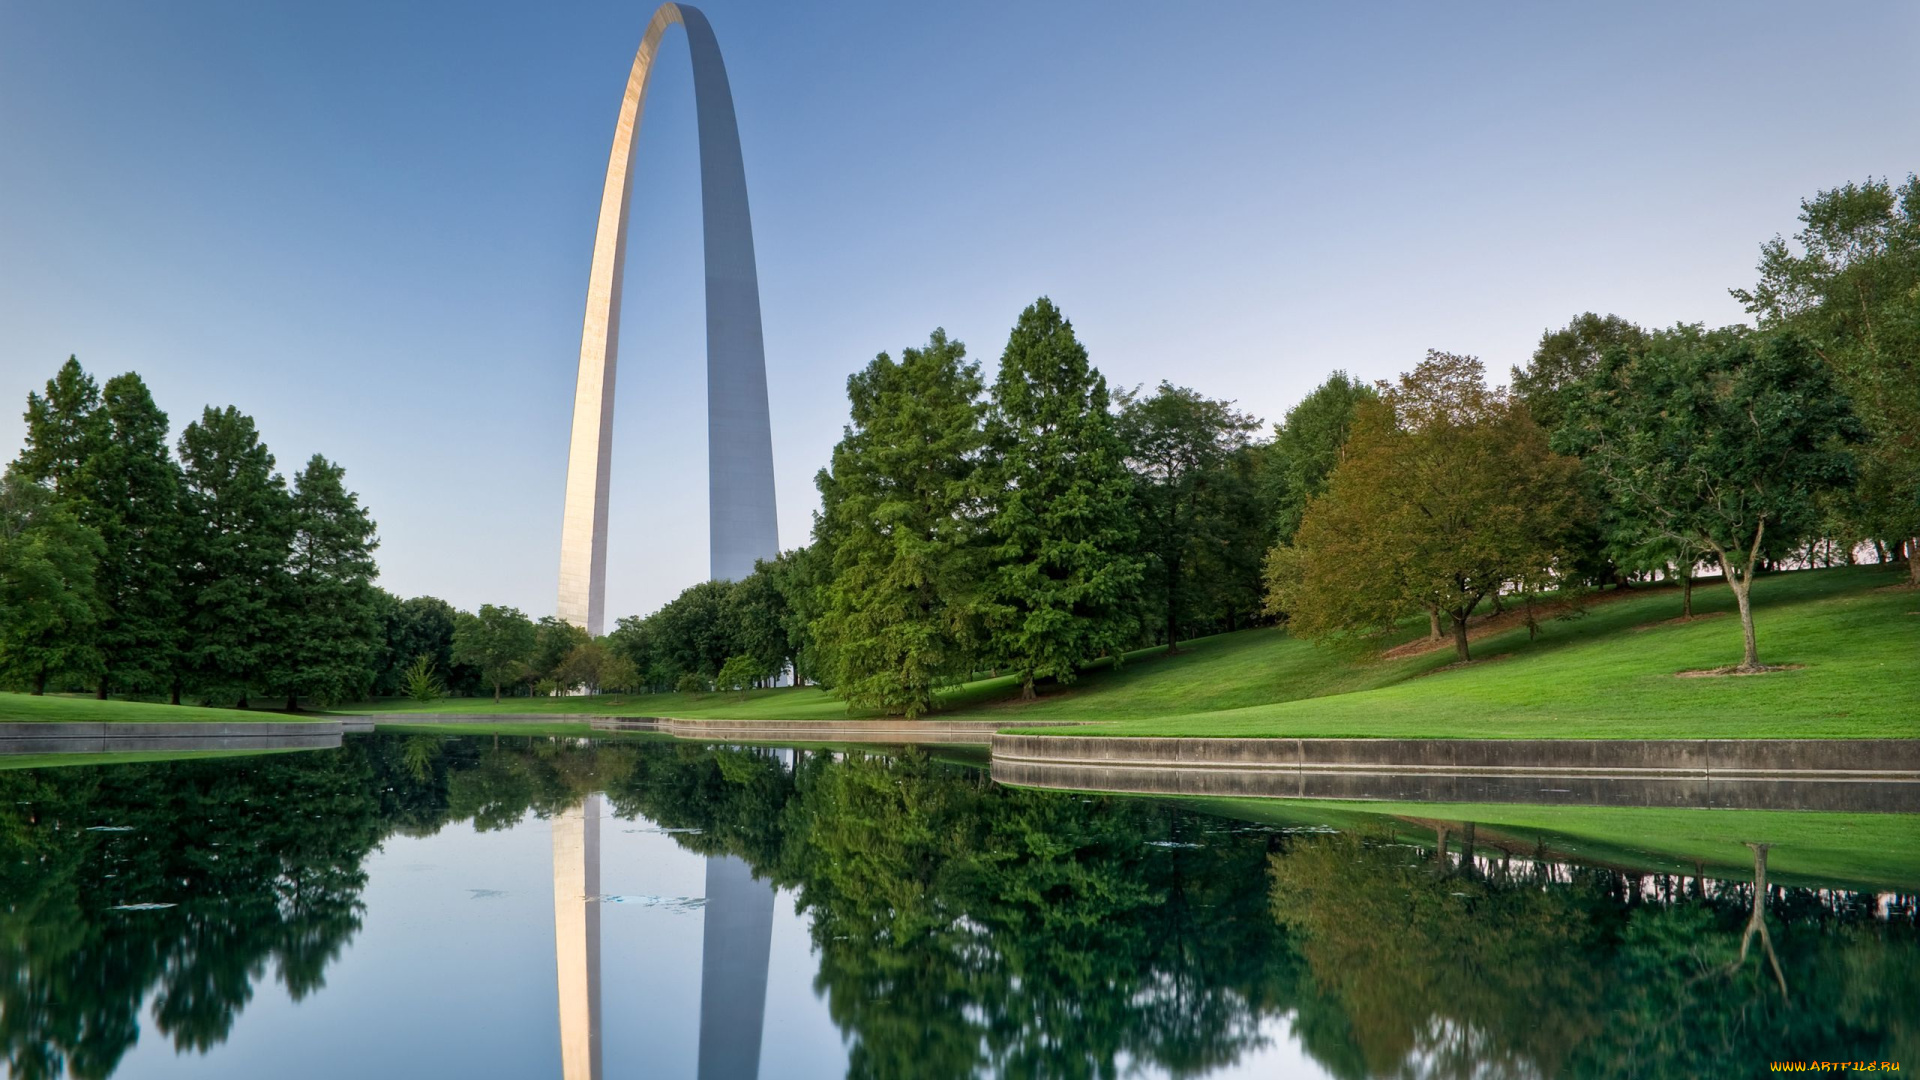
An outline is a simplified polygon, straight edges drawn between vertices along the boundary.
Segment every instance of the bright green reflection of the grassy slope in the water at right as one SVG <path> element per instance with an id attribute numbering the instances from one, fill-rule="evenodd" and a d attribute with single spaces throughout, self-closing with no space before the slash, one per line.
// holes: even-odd
<path id="1" fill-rule="evenodd" d="M 1476 844 L 1549 851 L 1630 871 L 1715 876 L 1753 872 L 1747 842 L 1772 844 L 1768 874 L 1780 884 L 1920 890 L 1920 817 L 1732 809 L 1540 807 L 1486 803 L 1346 803 L 1308 799 L 1181 799 L 1202 813 L 1265 824 L 1363 828 L 1396 821 L 1419 844 L 1434 834 L 1407 819 L 1475 822 Z M 1363 807 L 1363 809 L 1361 809 Z M 1459 846 L 1459 834 L 1450 836 Z"/>

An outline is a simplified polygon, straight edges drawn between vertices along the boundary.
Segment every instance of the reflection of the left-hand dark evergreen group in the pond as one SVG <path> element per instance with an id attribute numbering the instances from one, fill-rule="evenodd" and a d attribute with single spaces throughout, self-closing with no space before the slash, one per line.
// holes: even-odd
<path id="1" fill-rule="evenodd" d="M 294 999 L 323 986 L 359 930 L 371 780 L 357 755 L 0 773 L 12 1074 L 111 1074 L 148 994 L 205 1051 L 269 967 Z M 148 903 L 171 907 L 125 909 Z"/>

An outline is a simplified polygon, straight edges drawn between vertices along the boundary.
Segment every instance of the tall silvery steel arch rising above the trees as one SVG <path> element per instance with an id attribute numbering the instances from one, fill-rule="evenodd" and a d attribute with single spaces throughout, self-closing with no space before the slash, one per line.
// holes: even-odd
<path id="1" fill-rule="evenodd" d="M 760 279 L 753 263 L 747 169 L 733 123 L 733 92 L 714 31 L 697 8 L 660 4 L 634 56 L 607 160 L 588 311 L 580 331 L 574 429 L 566 452 L 559 617 L 601 634 L 607 621 L 607 482 L 612 384 L 620 344 L 620 277 L 634 194 L 634 135 L 647 77 L 666 29 L 680 23 L 693 54 L 701 138 L 701 221 L 707 246 L 707 513 L 712 577 L 739 580 L 755 559 L 780 553 L 774 517 L 774 436 L 766 409 Z"/>

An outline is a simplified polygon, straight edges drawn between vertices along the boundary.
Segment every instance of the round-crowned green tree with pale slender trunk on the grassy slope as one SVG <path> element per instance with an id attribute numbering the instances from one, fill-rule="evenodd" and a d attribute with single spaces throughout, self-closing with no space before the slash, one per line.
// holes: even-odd
<path id="1" fill-rule="evenodd" d="M 1607 482 L 1622 536 L 1711 552 L 1740 605 L 1736 671 L 1764 671 L 1753 573 L 1805 536 L 1853 479 L 1860 436 L 1832 371 L 1797 332 L 1674 327 L 1609 354 L 1569 405 L 1567 440 Z"/>

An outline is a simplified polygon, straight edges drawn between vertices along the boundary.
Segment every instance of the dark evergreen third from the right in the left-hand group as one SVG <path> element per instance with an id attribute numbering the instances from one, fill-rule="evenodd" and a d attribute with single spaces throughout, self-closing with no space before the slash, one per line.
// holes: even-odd
<path id="1" fill-rule="evenodd" d="M 73 484 L 81 517 L 106 542 L 96 694 L 152 694 L 179 663 L 180 475 L 167 452 L 167 413 L 138 375 L 108 379 L 96 417 L 92 454 Z"/>

